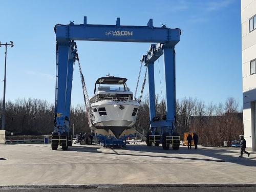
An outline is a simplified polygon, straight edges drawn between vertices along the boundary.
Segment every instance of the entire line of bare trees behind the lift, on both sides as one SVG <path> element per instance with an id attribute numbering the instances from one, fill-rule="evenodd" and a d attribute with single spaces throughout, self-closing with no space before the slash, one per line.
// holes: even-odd
<path id="1" fill-rule="evenodd" d="M 0 100 L 2 113 L 3 101 Z M 14 135 L 48 135 L 54 129 L 54 104 L 41 99 L 16 99 L 6 103 L 6 130 Z M 140 105 L 135 126 L 150 127 L 149 99 L 146 95 Z M 223 103 L 208 103 L 197 98 L 176 100 L 176 129 L 182 136 L 184 132 L 196 132 L 200 144 L 221 145 L 224 140 L 238 139 L 243 134 L 242 114 L 238 115 L 239 102 L 228 98 Z M 228 114 L 228 115 L 227 115 Z M 156 95 L 156 116 L 164 119 L 165 99 Z M 85 106 L 78 104 L 71 108 L 70 125 L 74 134 L 90 132 Z"/>

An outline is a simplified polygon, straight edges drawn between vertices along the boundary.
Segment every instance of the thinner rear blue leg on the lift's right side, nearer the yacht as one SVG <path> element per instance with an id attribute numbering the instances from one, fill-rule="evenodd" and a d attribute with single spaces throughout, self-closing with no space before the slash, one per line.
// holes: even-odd
<path id="1" fill-rule="evenodd" d="M 156 103 L 155 103 L 155 76 L 154 76 L 154 62 L 147 65 L 148 68 L 148 92 L 150 95 L 150 121 L 156 117 Z"/>

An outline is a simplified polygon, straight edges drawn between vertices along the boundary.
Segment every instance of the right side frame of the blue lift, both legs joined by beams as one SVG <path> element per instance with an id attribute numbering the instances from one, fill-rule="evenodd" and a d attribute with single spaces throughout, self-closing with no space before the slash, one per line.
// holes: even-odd
<path id="1" fill-rule="evenodd" d="M 155 84 L 154 82 L 154 62 L 164 55 L 164 78 L 165 78 L 165 108 L 166 118 L 164 120 L 156 117 L 155 105 Z M 148 67 L 148 88 L 150 99 L 150 123 L 151 127 L 173 127 L 176 121 L 176 87 L 175 87 L 175 50 L 174 46 L 168 44 L 152 44 L 145 55 L 142 56 L 141 62 Z M 154 108 L 154 109 L 152 109 Z"/>

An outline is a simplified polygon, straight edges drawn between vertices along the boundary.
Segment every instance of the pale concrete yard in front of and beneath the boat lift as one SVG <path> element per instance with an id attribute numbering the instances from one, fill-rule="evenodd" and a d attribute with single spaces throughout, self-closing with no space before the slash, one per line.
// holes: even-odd
<path id="1" fill-rule="evenodd" d="M 75 145 L 0 145 L 0 185 L 84 184 L 256 184 L 256 153 L 239 158 L 238 149 L 200 147 L 163 151 Z"/>

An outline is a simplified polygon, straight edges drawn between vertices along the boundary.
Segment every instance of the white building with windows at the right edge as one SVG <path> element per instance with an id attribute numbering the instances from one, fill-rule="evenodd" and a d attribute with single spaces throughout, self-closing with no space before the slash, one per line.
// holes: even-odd
<path id="1" fill-rule="evenodd" d="M 256 0 L 241 1 L 244 138 L 256 151 Z"/>

